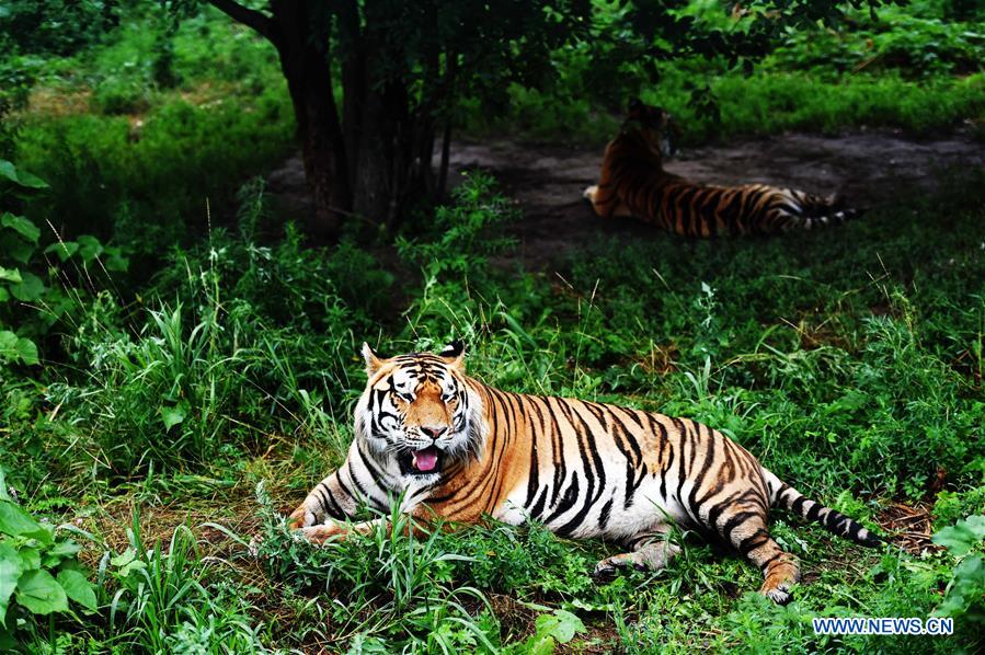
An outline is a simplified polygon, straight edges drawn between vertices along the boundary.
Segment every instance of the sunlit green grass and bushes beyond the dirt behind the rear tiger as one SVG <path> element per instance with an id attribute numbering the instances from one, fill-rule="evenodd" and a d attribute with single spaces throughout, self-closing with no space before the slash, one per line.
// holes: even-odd
<path id="1" fill-rule="evenodd" d="M 679 12 L 726 32 L 741 32 L 747 20 L 730 19 L 718 3 L 691 2 Z M 604 33 L 625 34 L 618 14 L 603 13 Z M 724 56 L 614 55 L 614 71 L 592 48 L 574 46 L 557 55 L 564 74 L 553 88 L 511 85 L 508 110 L 491 114 L 466 102 L 463 120 L 470 131 L 519 130 L 600 145 L 615 134 L 631 96 L 668 108 L 685 143 L 883 125 L 923 135 L 985 117 L 981 23 L 944 20 L 939 7 L 923 13 L 885 8 L 878 21 L 849 12 L 837 28 L 782 34 L 783 45 L 744 74 Z"/>

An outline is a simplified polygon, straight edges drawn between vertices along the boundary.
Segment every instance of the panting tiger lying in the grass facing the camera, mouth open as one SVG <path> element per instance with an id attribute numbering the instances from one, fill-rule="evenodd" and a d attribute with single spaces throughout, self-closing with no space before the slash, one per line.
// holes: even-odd
<path id="1" fill-rule="evenodd" d="M 625 547 L 597 563 L 605 579 L 666 566 L 680 550 L 673 530 L 688 529 L 758 566 L 760 591 L 776 602 L 789 599 L 800 568 L 770 537 L 771 507 L 862 545 L 882 543 L 701 423 L 495 389 L 466 374 L 460 342 L 391 358 L 364 344 L 363 356 L 368 379 L 346 459 L 287 519 L 314 543 L 392 529 L 387 518 L 355 522 L 365 507 L 423 525 L 535 521 Z"/>

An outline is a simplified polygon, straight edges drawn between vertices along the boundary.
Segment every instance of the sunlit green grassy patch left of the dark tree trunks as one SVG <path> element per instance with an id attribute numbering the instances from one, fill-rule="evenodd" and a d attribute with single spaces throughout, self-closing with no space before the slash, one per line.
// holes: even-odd
<path id="1" fill-rule="evenodd" d="M 145 9 L 125 10 L 116 31 L 70 57 L 13 58 L 36 82 L 7 119 L 15 130 L 8 157 L 53 187 L 26 215 L 67 238 L 125 243 L 141 281 L 161 248 L 231 220 L 242 181 L 294 149 L 270 44 L 210 8 L 173 35 L 170 19 Z"/>

